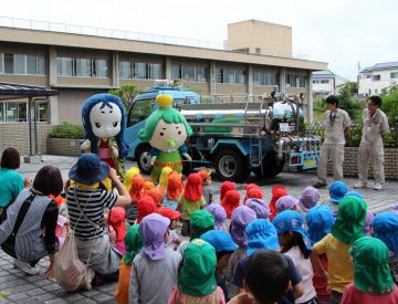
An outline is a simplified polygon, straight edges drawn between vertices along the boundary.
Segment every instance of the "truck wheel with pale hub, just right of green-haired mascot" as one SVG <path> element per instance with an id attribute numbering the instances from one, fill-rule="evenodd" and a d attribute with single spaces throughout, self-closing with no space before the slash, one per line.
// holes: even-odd
<path id="1" fill-rule="evenodd" d="M 221 180 L 243 181 L 250 174 L 248 160 L 234 149 L 222 149 L 216 155 L 214 169 Z"/>

